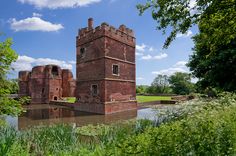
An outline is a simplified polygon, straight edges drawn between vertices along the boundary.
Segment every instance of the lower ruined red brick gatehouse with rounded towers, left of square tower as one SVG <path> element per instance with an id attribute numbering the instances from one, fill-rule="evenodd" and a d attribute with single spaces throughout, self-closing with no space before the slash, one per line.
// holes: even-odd
<path id="1" fill-rule="evenodd" d="M 31 103 L 40 104 L 75 96 L 76 83 L 70 70 L 47 65 L 20 71 L 19 88 L 19 96 L 30 96 Z"/>

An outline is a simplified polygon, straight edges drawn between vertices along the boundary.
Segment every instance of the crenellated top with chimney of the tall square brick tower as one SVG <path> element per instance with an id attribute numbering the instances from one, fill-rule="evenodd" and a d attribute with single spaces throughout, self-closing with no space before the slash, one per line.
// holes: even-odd
<path id="1" fill-rule="evenodd" d="M 88 20 L 88 27 L 79 29 L 76 45 L 78 47 L 104 36 L 123 42 L 132 47 L 135 46 L 135 37 L 132 29 L 127 28 L 125 25 L 120 25 L 117 29 L 105 22 L 100 26 L 93 28 L 93 20 L 91 18 Z"/>

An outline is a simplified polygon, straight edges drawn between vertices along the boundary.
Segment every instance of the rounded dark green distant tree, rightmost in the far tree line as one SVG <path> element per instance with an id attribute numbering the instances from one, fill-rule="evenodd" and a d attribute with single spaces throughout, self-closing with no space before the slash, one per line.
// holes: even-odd
<path id="1" fill-rule="evenodd" d="M 169 83 L 175 94 L 186 95 L 194 90 L 191 75 L 188 73 L 176 72 L 170 76 Z"/>

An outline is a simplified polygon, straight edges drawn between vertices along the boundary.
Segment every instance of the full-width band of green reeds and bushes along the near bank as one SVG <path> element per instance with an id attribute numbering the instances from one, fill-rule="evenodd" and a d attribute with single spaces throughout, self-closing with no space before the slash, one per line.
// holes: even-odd
<path id="1" fill-rule="evenodd" d="M 191 109 L 192 108 L 192 109 Z M 236 95 L 194 101 L 162 121 L 0 128 L 0 155 L 235 155 Z"/>

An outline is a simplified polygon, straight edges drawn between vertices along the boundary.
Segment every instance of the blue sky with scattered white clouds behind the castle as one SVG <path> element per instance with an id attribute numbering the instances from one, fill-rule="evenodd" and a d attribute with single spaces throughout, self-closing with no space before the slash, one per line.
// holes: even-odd
<path id="1" fill-rule="evenodd" d="M 134 30 L 137 84 L 149 85 L 157 74 L 188 72 L 185 63 L 192 54 L 191 37 L 197 33 L 197 28 L 193 27 L 187 34 L 178 34 L 171 46 L 163 50 L 167 36 L 156 30 L 156 22 L 149 11 L 139 16 L 135 7 L 144 2 L 2 0 L 0 32 L 4 32 L 3 37 L 13 38 L 13 49 L 19 54 L 18 61 L 12 65 L 16 72 L 54 63 L 72 69 L 75 76 L 75 37 L 79 28 L 87 26 L 89 17 L 94 19 L 95 26 L 106 22 L 115 27 L 125 24 Z"/>

